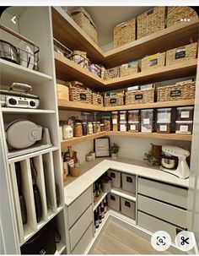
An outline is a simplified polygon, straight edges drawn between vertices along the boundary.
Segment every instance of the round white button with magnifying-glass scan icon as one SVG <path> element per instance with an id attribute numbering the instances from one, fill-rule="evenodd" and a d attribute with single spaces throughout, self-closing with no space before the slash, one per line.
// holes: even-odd
<path id="1" fill-rule="evenodd" d="M 169 248 L 171 244 L 171 238 L 165 231 L 156 231 L 151 237 L 151 244 L 154 249 L 163 252 Z"/>

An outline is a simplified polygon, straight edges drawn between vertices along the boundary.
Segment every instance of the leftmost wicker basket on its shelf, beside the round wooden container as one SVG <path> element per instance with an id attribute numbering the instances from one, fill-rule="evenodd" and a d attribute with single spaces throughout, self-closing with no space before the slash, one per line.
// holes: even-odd
<path id="1" fill-rule="evenodd" d="M 84 87 L 82 83 L 78 81 L 67 82 L 69 87 L 69 100 L 79 101 L 83 103 L 91 104 L 92 101 L 92 91 Z"/>

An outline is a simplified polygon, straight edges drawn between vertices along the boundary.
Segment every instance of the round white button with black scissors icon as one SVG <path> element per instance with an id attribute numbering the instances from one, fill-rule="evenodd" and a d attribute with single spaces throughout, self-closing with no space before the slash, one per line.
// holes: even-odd
<path id="1" fill-rule="evenodd" d="M 196 243 L 194 234 L 190 231 L 180 231 L 175 237 L 175 245 L 183 252 L 188 252 L 194 248 Z"/>

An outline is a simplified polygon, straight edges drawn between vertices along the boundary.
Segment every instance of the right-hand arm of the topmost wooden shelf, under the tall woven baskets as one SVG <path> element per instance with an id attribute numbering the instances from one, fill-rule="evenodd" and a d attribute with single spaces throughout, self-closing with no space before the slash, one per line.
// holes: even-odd
<path id="1" fill-rule="evenodd" d="M 194 41 L 198 39 L 198 19 L 191 19 L 187 23 L 181 22 L 178 25 L 160 30 L 125 46 L 105 52 L 103 64 L 112 68 L 156 52 L 165 52 L 175 47 L 185 46 L 189 44 L 190 37 Z"/>

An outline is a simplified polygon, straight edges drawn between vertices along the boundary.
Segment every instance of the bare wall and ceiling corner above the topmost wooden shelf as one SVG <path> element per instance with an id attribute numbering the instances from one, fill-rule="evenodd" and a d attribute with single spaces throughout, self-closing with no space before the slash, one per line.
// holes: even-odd
<path id="1" fill-rule="evenodd" d="M 76 7 L 68 7 L 71 12 Z M 137 17 L 152 7 L 147 6 L 129 6 L 129 7 L 112 7 L 112 6 L 87 6 L 83 7 L 94 20 L 98 29 L 98 40 L 100 46 L 105 46 L 113 41 L 113 28 L 128 19 Z"/>

